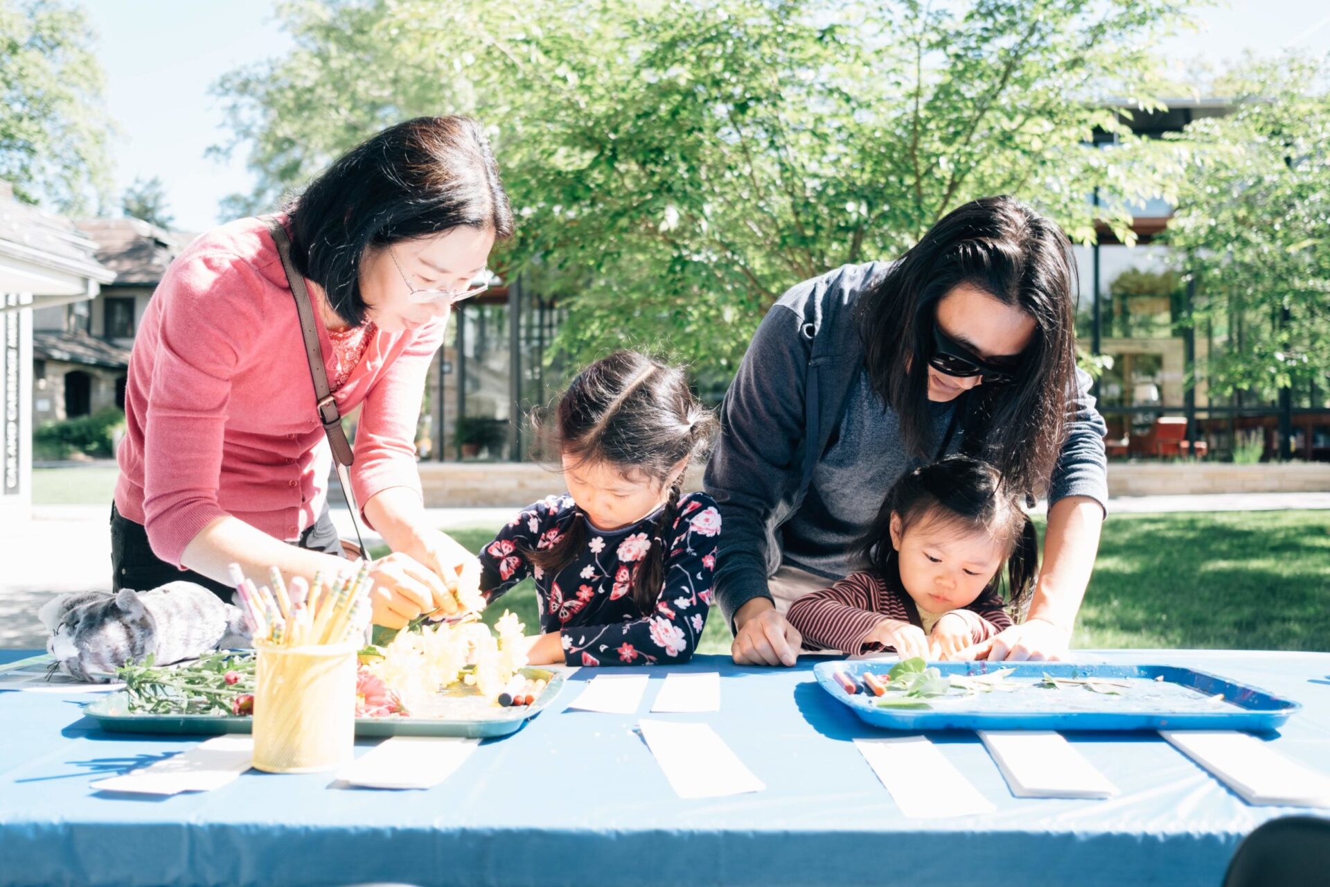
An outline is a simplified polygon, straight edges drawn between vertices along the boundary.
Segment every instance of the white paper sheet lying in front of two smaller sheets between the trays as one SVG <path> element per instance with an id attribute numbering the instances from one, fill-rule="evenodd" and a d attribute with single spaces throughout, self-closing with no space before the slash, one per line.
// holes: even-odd
<path id="1" fill-rule="evenodd" d="M 705 723 L 640 721 L 637 729 L 680 798 L 720 798 L 766 789 Z"/>

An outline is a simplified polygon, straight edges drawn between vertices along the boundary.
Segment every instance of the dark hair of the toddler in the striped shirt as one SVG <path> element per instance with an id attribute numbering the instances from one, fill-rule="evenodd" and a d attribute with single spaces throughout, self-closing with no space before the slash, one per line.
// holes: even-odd
<path id="1" fill-rule="evenodd" d="M 887 492 L 858 548 L 868 567 L 888 584 L 896 581 L 899 565 L 891 544 L 891 516 L 900 516 L 900 532 L 922 520 L 942 520 L 964 532 L 987 532 L 1007 547 L 1005 600 L 1019 614 L 1039 574 L 1039 532 L 1021 511 L 1024 493 L 1003 480 L 994 465 L 970 456 L 948 456 L 906 472 Z M 1003 569 L 988 588 L 1001 593 Z"/>

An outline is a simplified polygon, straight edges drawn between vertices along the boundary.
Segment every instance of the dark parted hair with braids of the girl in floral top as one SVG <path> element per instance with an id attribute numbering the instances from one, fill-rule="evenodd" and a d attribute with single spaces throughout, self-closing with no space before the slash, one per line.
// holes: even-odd
<path id="1" fill-rule="evenodd" d="M 555 416 L 533 424 L 549 455 L 575 465 L 606 464 L 624 475 L 640 473 L 670 483 L 669 501 L 652 529 L 652 548 L 633 567 L 633 602 L 644 616 L 656 609 L 665 581 L 665 547 L 678 511 L 684 472 L 676 467 L 705 459 L 716 434 L 716 416 L 702 407 L 678 367 L 636 351 L 616 351 L 583 370 L 559 399 Z M 587 517 L 549 548 L 524 551 L 541 569 L 556 573 L 587 544 Z"/>

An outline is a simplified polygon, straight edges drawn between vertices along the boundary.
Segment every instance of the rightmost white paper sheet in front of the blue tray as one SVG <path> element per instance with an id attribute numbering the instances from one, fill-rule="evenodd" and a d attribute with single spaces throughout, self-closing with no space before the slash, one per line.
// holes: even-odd
<path id="1" fill-rule="evenodd" d="M 1160 735 L 1248 803 L 1330 807 L 1330 777 L 1254 735 L 1229 730 L 1160 730 Z"/>

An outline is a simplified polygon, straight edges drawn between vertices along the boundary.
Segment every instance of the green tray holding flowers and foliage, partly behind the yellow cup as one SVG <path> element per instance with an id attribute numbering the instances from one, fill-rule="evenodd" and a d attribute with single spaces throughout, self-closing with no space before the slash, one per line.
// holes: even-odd
<path id="1" fill-rule="evenodd" d="M 472 693 L 443 693 L 431 706 L 431 717 L 356 718 L 358 737 L 469 737 L 487 739 L 508 735 L 521 729 L 528 718 L 540 714 L 564 688 L 559 672 L 527 668 L 521 673 L 535 681 L 548 681 L 535 702 L 519 707 L 491 705 Z M 218 735 L 249 733 L 253 718 L 229 714 L 152 714 L 130 711 L 124 692 L 101 697 L 84 706 L 84 714 L 110 733 L 157 733 Z"/>

